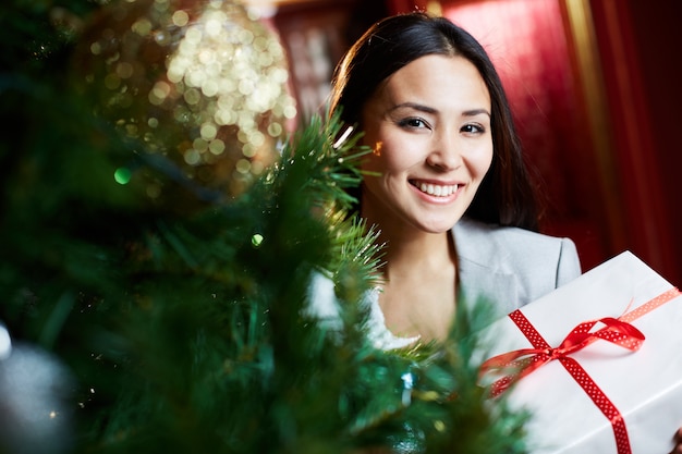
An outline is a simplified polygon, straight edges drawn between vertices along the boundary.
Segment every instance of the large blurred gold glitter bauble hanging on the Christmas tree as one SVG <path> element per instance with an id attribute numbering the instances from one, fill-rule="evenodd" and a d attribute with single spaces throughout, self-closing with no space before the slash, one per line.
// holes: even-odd
<path id="1" fill-rule="evenodd" d="M 74 65 L 96 114 L 163 176 L 129 169 L 163 204 L 178 201 L 179 187 L 199 199 L 239 196 L 277 158 L 295 116 L 280 41 L 230 1 L 107 5 Z"/>

